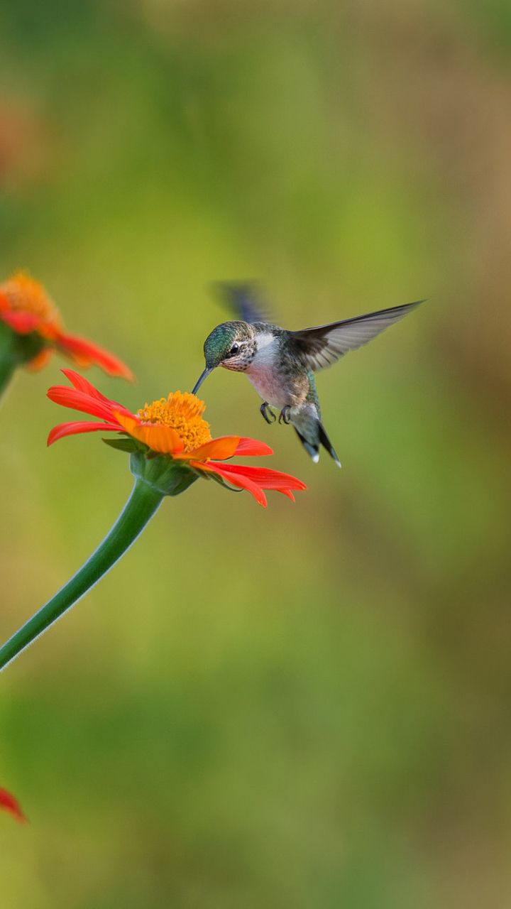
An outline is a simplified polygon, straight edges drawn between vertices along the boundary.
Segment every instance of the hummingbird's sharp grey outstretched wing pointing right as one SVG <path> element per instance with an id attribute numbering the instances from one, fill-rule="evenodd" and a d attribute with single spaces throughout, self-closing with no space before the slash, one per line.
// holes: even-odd
<path id="1" fill-rule="evenodd" d="M 355 318 L 345 319 L 343 322 L 318 325 L 317 328 L 306 328 L 304 331 L 289 334 L 296 351 L 305 356 L 308 368 L 324 369 L 336 363 L 336 360 L 350 350 L 367 344 L 367 341 L 371 341 L 389 325 L 394 325 L 424 302 L 417 300 L 416 303 L 382 309 L 378 313 L 356 315 Z"/>

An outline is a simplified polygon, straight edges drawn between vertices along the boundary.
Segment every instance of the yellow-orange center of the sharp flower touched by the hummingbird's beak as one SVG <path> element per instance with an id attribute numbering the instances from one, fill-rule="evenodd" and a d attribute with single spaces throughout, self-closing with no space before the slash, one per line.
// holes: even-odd
<path id="1" fill-rule="evenodd" d="M 209 424 L 203 420 L 205 403 L 195 395 L 174 392 L 152 404 L 145 404 L 138 411 L 143 424 L 160 424 L 175 429 L 185 445 L 185 452 L 194 451 L 199 445 L 211 442 Z"/>

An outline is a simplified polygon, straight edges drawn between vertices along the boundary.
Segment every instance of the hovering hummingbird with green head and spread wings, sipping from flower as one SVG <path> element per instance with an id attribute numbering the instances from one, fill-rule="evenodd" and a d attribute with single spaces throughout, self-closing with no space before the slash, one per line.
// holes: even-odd
<path id="1" fill-rule="evenodd" d="M 205 370 L 192 394 L 216 366 L 245 373 L 263 400 L 260 411 L 266 423 L 276 422 L 275 408 L 279 411 L 278 422 L 294 427 L 315 464 L 319 461 L 319 446 L 323 445 L 340 467 L 322 423 L 315 373 L 371 341 L 424 300 L 328 325 L 287 331 L 266 321 L 257 305 L 254 285 L 219 283 L 217 287 L 238 318 L 216 325 L 206 337 Z"/>

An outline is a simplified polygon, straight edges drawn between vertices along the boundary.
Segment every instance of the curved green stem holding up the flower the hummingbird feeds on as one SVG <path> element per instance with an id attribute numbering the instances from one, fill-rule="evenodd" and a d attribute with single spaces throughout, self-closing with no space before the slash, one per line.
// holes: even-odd
<path id="1" fill-rule="evenodd" d="M 51 600 L 39 609 L 9 640 L 0 647 L 0 671 L 32 644 L 39 634 L 56 622 L 91 587 L 99 581 L 112 565 L 125 554 L 162 503 L 164 496 L 143 480 L 135 480 L 132 493 L 114 526 L 106 534 L 76 574 Z"/>

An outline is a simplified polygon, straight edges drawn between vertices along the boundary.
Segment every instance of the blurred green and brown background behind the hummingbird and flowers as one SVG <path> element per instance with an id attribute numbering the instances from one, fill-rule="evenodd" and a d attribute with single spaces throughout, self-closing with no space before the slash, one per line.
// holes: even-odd
<path id="1" fill-rule="evenodd" d="M 0 279 L 125 358 L 136 408 L 202 369 L 215 279 L 300 328 L 428 297 L 319 376 L 343 462 L 266 426 L 296 505 L 197 483 L 2 675 L 8 909 L 511 904 L 511 17 L 506 0 L 0 7 Z M 2 403 L 2 639 L 131 487 Z"/>

